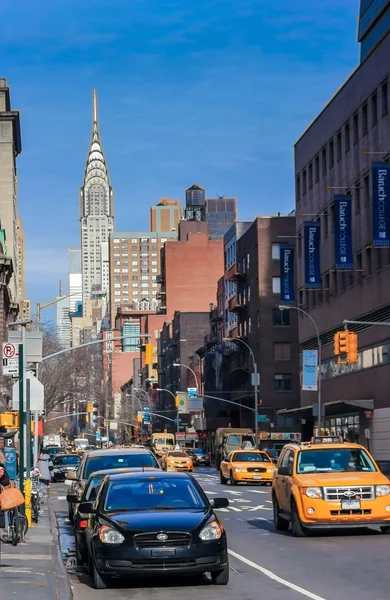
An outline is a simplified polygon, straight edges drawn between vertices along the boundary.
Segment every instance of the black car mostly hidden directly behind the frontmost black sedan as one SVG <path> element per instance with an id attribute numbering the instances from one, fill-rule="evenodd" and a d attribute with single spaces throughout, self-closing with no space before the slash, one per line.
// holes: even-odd
<path id="1" fill-rule="evenodd" d="M 68 502 L 72 502 L 76 505 L 80 504 L 80 502 L 95 502 L 99 486 L 106 475 L 129 472 L 131 472 L 129 469 L 109 469 L 106 471 L 96 471 L 91 473 L 85 485 L 81 499 L 79 499 L 76 494 L 70 493 L 67 495 L 66 499 Z M 85 529 L 87 527 L 88 518 L 88 514 L 81 513 L 76 507 L 73 515 L 73 529 L 75 534 L 76 559 L 80 565 L 86 563 L 88 557 L 87 547 L 85 544 Z"/>

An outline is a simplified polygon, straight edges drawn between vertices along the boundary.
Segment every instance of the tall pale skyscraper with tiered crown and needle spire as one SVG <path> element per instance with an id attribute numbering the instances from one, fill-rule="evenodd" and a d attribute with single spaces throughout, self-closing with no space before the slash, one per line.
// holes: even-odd
<path id="1" fill-rule="evenodd" d="M 92 137 L 80 189 L 83 314 L 94 293 L 109 289 L 108 239 L 114 230 L 114 191 L 100 140 L 97 91 L 92 94 Z"/>

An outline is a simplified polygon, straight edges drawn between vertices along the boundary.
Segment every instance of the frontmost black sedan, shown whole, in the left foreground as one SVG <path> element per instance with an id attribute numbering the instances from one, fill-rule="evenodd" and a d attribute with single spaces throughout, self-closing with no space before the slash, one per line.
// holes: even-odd
<path id="1" fill-rule="evenodd" d="M 191 475 L 175 472 L 107 475 L 88 514 L 85 539 L 93 584 L 110 577 L 211 574 L 215 585 L 229 581 L 226 533 L 213 509 L 226 498 L 208 500 Z"/>

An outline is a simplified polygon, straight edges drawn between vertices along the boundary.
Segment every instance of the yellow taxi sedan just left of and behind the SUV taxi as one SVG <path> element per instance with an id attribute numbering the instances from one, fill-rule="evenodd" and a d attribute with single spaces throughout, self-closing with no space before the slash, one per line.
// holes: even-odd
<path id="1" fill-rule="evenodd" d="M 221 462 L 220 478 L 225 485 L 238 483 L 271 483 L 276 471 L 275 465 L 261 450 L 236 450 L 230 452 Z"/>

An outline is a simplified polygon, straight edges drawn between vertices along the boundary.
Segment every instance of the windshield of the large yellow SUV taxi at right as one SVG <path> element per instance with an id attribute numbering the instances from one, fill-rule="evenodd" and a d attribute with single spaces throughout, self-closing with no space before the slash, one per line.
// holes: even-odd
<path id="1" fill-rule="evenodd" d="M 345 471 L 376 471 L 367 452 L 354 448 L 301 450 L 297 473 L 331 473 Z"/>

